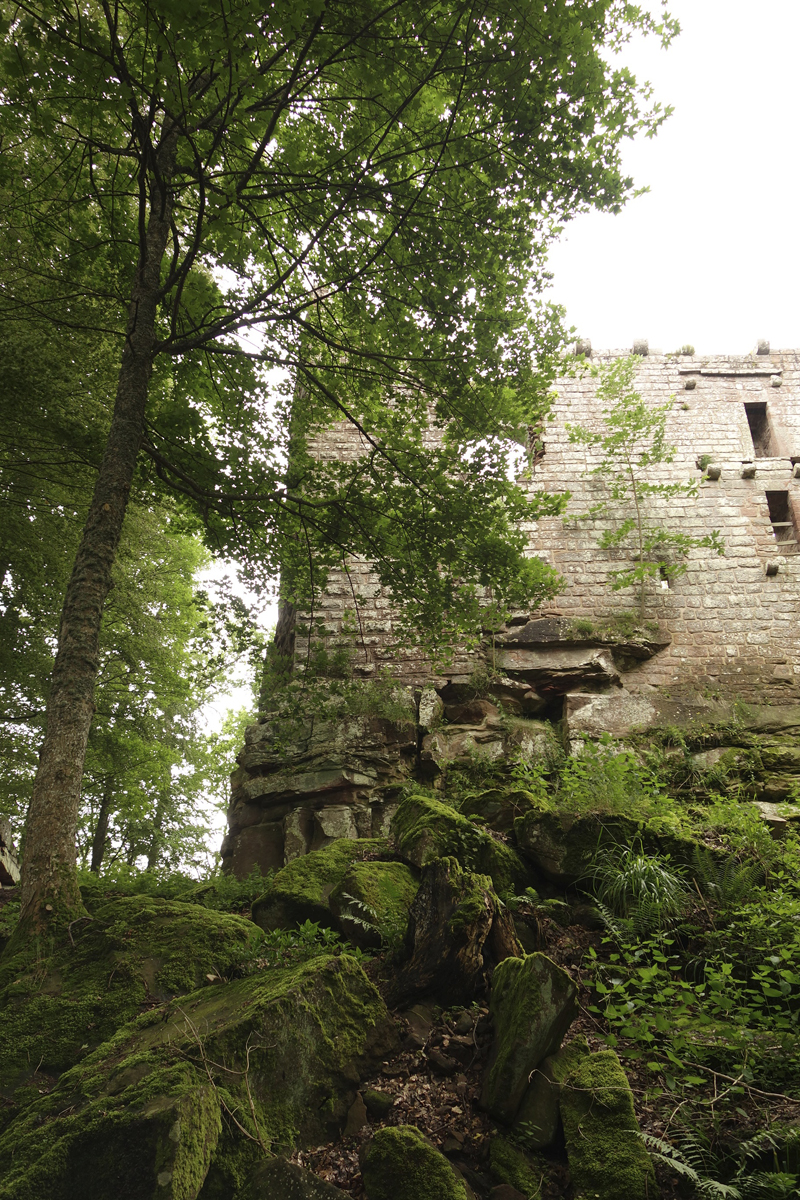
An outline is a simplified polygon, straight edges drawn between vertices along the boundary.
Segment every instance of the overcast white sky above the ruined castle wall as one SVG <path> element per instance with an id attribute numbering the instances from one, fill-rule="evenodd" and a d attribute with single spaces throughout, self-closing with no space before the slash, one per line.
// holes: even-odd
<path id="1" fill-rule="evenodd" d="M 656 7 L 657 0 L 651 7 Z M 551 254 L 552 298 L 595 349 L 800 346 L 800 0 L 669 0 L 681 35 L 622 58 L 674 107 L 625 169 L 650 192 L 588 214 Z"/>

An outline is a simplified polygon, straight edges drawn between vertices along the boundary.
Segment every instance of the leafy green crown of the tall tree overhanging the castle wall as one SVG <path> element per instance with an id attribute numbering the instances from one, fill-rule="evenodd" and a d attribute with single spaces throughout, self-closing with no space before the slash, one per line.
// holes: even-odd
<path id="1" fill-rule="evenodd" d="M 168 194 L 144 450 L 213 545 L 306 593 L 312 556 L 319 572 L 363 553 L 425 625 L 473 620 L 489 583 L 551 592 L 513 529 L 531 512 L 505 450 L 541 415 L 563 336 L 531 296 L 557 222 L 619 209 L 620 139 L 663 118 L 609 49 L 674 23 L 621 0 L 5 13 L 19 250 L 0 312 L 119 342 L 146 208 Z M 289 478 L 275 368 L 294 389 Z M 307 452 L 332 420 L 359 432 L 357 464 Z"/>

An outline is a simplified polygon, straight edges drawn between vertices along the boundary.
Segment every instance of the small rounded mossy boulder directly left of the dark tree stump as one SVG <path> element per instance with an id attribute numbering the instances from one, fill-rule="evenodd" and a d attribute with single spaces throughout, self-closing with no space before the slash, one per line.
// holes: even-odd
<path id="1" fill-rule="evenodd" d="M 405 863 L 353 863 L 329 904 L 355 946 L 399 946 L 419 886 L 417 872 Z"/>

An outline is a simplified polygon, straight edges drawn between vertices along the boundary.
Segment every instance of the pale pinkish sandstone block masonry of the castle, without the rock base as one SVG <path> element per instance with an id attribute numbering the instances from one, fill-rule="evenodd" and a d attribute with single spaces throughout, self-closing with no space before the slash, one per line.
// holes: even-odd
<path id="1" fill-rule="evenodd" d="M 602 480 L 587 474 L 601 456 L 571 443 L 566 426 L 601 428 L 591 368 L 621 353 L 596 353 L 583 370 L 560 379 L 551 416 L 537 431 L 545 452 L 536 455 L 525 486 L 570 491 L 569 512 L 585 511 L 606 494 Z M 800 556 L 795 527 L 778 527 L 777 521 L 800 517 L 800 479 L 794 474 L 795 461 L 800 463 L 800 352 L 652 354 L 642 359 L 637 388 L 654 404 L 674 396 L 667 437 L 676 455 L 654 478 L 698 481 L 694 498 L 648 502 L 650 515 L 693 535 L 718 529 L 726 553 L 720 558 L 694 550 L 685 575 L 668 587 L 656 581 L 650 588 L 648 618 L 666 625 L 673 641 L 628 671 L 625 686 L 633 694 L 690 688 L 788 702 L 798 695 L 800 678 Z M 321 431 L 314 449 L 337 458 L 366 452 L 360 436 L 344 425 Z M 718 479 L 703 478 L 696 464 L 702 455 L 720 468 Z M 560 517 L 531 522 L 530 553 L 547 559 L 566 583 L 545 616 L 602 620 L 636 610 L 631 589 L 613 592 L 609 586 L 609 572 L 630 562 L 631 552 L 601 550 L 603 528 L 601 521 L 575 524 Z M 768 565 L 777 572 L 768 575 Z M 347 570 L 332 572 L 315 612 L 299 618 L 301 625 L 313 620 L 324 622 L 330 646 L 355 647 L 356 676 L 387 668 L 403 683 L 432 677 L 423 656 L 393 646 L 391 599 L 381 594 L 368 563 L 350 562 Z M 307 640 L 299 637 L 299 666 L 307 653 Z M 449 677 L 465 678 L 474 665 L 473 655 L 457 654 Z"/>

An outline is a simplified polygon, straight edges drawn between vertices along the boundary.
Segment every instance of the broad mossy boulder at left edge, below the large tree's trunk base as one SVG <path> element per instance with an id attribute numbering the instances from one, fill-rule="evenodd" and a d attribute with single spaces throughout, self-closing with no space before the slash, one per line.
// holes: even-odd
<path id="1" fill-rule="evenodd" d="M 139 1012 L 225 978 L 252 956 L 252 922 L 154 896 L 101 900 L 0 966 L 0 1093 L 24 1103 Z M 7 1115 L 7 1114 L 6 1114 Z"/>

